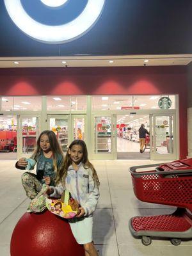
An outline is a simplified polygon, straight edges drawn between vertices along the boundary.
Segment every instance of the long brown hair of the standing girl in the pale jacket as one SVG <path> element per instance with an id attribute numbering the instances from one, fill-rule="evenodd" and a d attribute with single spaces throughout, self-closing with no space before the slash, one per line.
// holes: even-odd
<path id="1" fill-rule="evenodd" d="M 72 159 L 70 158 L 69 150 L 71 150 L 71 148 L 74 145 L 81 146 L 82 151 L 83 151 L 83 157 L 81 159 L 81 162 L 83 163 L 83 167 L 85 169 L 88 169 L 88 168 L 92 169 L 92 177 L 93 177 L 94 183 L 97 185 L 97 188 L 98 188 L 100 185 L 99 178 L 97 176 L 97 172 L 96 172 L 93 164 L 90 163 L 90 161 L 88 160 L 88 151 L 86 148 L 86 144 L 84 143 L 83 140 L 74 140 L 74 141 L 72 141 L 72 143 L 70 143 L 70 146 L 68 147 L 68 150 L 67 150 L 67 153 L 65 156 L 64 166 L 62 168 L 60 168 L 60 170 L 57 173 L 56 183 L 62 182 L 63 184 L 65 184 L 68 167 L 72 164 Z"/>

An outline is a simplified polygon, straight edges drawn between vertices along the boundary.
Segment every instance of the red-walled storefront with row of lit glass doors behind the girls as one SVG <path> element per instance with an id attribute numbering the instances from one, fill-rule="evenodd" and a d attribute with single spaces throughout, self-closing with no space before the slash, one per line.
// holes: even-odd
<path id="1" fill-rule="evenodd" d="M 1 117 L 10 118 L 10 129 L 17 131 L 17 145 L 12 140 L 7 150 L 17 151 L 17 158 L 31 154 L 38 134 L 52 129 L 64 152 L 80 138 L 88 145 L 90 159 L 119 159 L 121 124 L 125 138 L 138 129 L 131 118 L 145 122 L 150 130 L 150 159 L 188 154 L 185 67 L 4 68 L 0 72 Z M 172 99 L 171 108 L 158 108 L 163 96 Z"/>

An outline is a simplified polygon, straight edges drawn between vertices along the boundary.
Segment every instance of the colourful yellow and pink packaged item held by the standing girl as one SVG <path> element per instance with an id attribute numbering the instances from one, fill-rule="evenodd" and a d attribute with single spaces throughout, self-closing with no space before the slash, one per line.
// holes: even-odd
<path id="1" fill-rule="evenodd" d="M 74 218 L 79 211 L 79 202 L 72 198 L 65 190 L 60 199 L 46 198 L 46 206 L 49 211 L 65 219 Z"/>

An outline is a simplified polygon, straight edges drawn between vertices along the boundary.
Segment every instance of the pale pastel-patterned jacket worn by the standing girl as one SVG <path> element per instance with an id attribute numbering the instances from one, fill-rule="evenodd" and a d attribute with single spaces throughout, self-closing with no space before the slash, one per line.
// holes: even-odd
<path id="1" fill-rule="evenodd" d="M 50 188 L 54 189 L 54 192 L 50 196 L 60 198 L 63 191 L 67 189 L 84 208 L 84 216 L 92 215 L 99 200 L 99 189 L 94 184 L 92 173 L 92 169 L 84 168 L 82 163 L 79 164 L 77 171 L 70 165 L 65 180 L 65 188 L 62 184 L 57 187 L 51 186 Z"/>

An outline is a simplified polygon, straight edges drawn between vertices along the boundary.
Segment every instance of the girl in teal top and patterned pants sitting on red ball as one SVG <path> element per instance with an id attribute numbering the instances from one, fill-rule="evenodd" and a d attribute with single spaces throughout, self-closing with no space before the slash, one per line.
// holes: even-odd
<path id="1" fill-rule="evenodd" d="M 22 186 L 31 199 L 28 212 L 42 212 L 45 209 L 45 191 L 48 186 L 55 186 L 57 172 L 64 163 L 64 156 L 53 131 L 43 131 L 36 141 L 36 148 L 28 159 L 22 157 L 15 167 L 20 170 L 33 170 L 36 174 L 24 172 Z"/>

